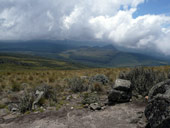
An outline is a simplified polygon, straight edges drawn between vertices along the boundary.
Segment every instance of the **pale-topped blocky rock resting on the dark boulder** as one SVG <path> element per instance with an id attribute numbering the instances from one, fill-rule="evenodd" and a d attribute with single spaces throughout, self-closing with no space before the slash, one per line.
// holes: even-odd
<path id="1" fill-rule="evenodd" d="M 128 80 L 117 79 L 115 81 L 114 89 L 119 91 L 129 91 L 131 90 L 131 82 Z"/>

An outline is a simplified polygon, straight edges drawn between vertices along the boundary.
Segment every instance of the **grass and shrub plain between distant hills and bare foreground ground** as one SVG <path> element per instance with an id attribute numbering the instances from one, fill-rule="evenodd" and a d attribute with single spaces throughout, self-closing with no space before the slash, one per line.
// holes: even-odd
<path id="1" fill-rule="evenodd" d="M 0 108 L 21 113 L 54 107 L 98 103 L 117 78 L 132 82 L 133 96 L 147 96 L 149 89 L 169 77 L 170 66 L 143 68 L 92 68 L 81 70 L 2 70 Z M 41 96 L 41 92 L 43 95 Z M 37 97 L 40 99 L 36 101 Z M 12 101 L 13 104 L 10 104 Z M 72 104 L 73 103 L 73 104 Z M 15 107 L 18 104 L 18 107 Z M 100 104 L 100 103 L 99 103 Z M 14 106 L 14 107 L 13 107 Z M 73 107 L 73 108 L 74 108 Z M 15 110 L 15 109 L 14 109 Z"/>

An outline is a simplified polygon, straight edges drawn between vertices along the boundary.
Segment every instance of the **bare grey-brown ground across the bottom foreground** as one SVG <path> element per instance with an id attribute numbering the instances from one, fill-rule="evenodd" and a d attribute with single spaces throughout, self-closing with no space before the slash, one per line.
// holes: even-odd
<path id="1" fill-rule="evenodd" d="M 46 111 L 7 119 L 0 128 L 136 128 L 133 119 L 144 111 L 144 106 L 132 103 L 109 106 L 91 112 L 87 109 Z"/>

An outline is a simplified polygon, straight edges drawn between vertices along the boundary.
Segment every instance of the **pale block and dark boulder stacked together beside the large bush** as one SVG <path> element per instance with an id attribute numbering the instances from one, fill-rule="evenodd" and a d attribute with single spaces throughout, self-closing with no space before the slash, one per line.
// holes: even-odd
<path id="1" fill-rule="evenodd" d="M 109 104 L 129 102 L 132 97 L 131 82 L 128 80 L 117 79 L 113 90 L 108 96 Z"/>

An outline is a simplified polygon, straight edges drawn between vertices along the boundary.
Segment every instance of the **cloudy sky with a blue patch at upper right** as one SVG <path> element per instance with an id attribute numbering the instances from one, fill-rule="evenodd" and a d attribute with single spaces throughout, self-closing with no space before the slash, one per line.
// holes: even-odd
<path id="1" fill-rule="evenodd" d="M 0 40 L 99 40 L 170 55 L 170 0 L 0 0 Z"/>

